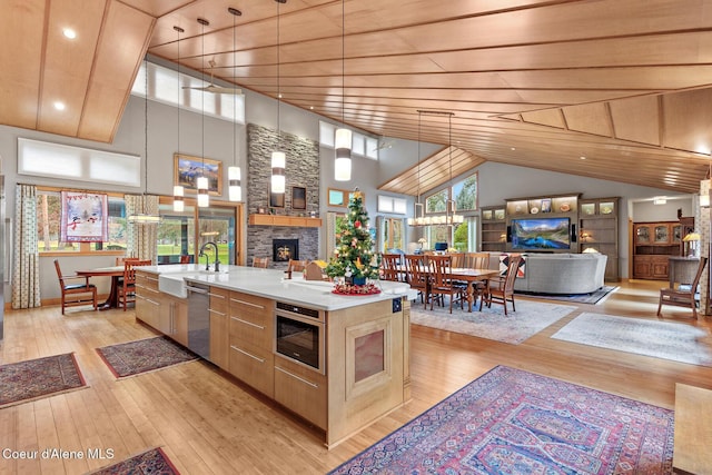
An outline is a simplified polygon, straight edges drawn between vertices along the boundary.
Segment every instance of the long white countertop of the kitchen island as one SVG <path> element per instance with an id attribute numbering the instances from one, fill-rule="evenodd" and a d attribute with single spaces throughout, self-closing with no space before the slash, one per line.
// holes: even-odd
<path id="1" fill-rule="evenodd" d="M 283 270 L 243 266 L 222 266 L 220 273 L 206 271 L 205 266 L 197 264 L 142 266 L 140 269 L 157 274 L 164 279 L 175 280 L 176 284 L 180 280 L 202 283 L 322 310 L 340 310 L 394 297 L 408 296 L 412 293 L 411 286 L 407 284 L 380 280 L 378 281 L 380 294 L 369 296 L 336 295 L 332 293 L 334 285 L 330 283 L 304 280 L 297 273 L 293 275 L 291 279 L 285 279 Z"/>

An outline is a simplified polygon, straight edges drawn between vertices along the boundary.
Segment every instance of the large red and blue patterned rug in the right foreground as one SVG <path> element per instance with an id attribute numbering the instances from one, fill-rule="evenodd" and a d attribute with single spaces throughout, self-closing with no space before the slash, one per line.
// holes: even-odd
<path id="1" fill-rule="evenodd" d="M 332 474 L 671 474 L 670 409 L 497 366 Z"/>

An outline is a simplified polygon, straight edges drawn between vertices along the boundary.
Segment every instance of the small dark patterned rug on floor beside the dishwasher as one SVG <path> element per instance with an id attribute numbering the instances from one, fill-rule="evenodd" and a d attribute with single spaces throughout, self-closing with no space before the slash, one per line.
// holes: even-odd
<path id="1" fill-rule="evenodd" d="M 196 354 L 165 336 L 105 346 L 97 348 L 97 353 L 117 378 L 198 359 Z"/>

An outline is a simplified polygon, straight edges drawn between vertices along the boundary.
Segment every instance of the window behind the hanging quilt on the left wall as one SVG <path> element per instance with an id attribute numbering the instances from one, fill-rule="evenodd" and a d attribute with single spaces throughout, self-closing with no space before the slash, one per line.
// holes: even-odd
<path id="1" fill-rule="evenodd" d="M 126 206 L 122 196 L 109 195 L 109 240 L 105 243 L 61 243 L 61 200 L 59 191 L 37 190 L 37 244 L 40 254 L 126 251 Z"/>

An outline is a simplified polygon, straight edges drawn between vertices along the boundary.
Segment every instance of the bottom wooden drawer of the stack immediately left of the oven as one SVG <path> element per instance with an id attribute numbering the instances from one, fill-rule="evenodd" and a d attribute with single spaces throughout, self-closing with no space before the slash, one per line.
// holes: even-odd
<path id="1" fill-rule="evenodd" d="M 230 374 L 270 398 L 275 394 L 274 358 L 271 350 L 230 337 Z"/>

